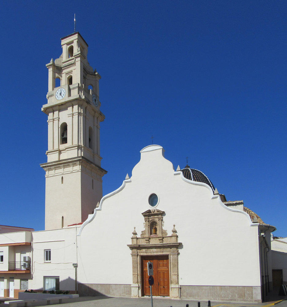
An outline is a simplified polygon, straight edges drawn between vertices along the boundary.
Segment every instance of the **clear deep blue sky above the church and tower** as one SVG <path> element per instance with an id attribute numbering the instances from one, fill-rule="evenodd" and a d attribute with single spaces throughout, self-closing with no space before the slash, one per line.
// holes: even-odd
<path id="1" fill-rule="evenodd" d="M 102 77 L 103 193 L 131 176 L 153 135 L 175 168 L 189 157 L 227 200 L 287 236 L 286 0 L 0 5 L 0 224 L 44 229 L 45 64 L 76 13 Z"/>

